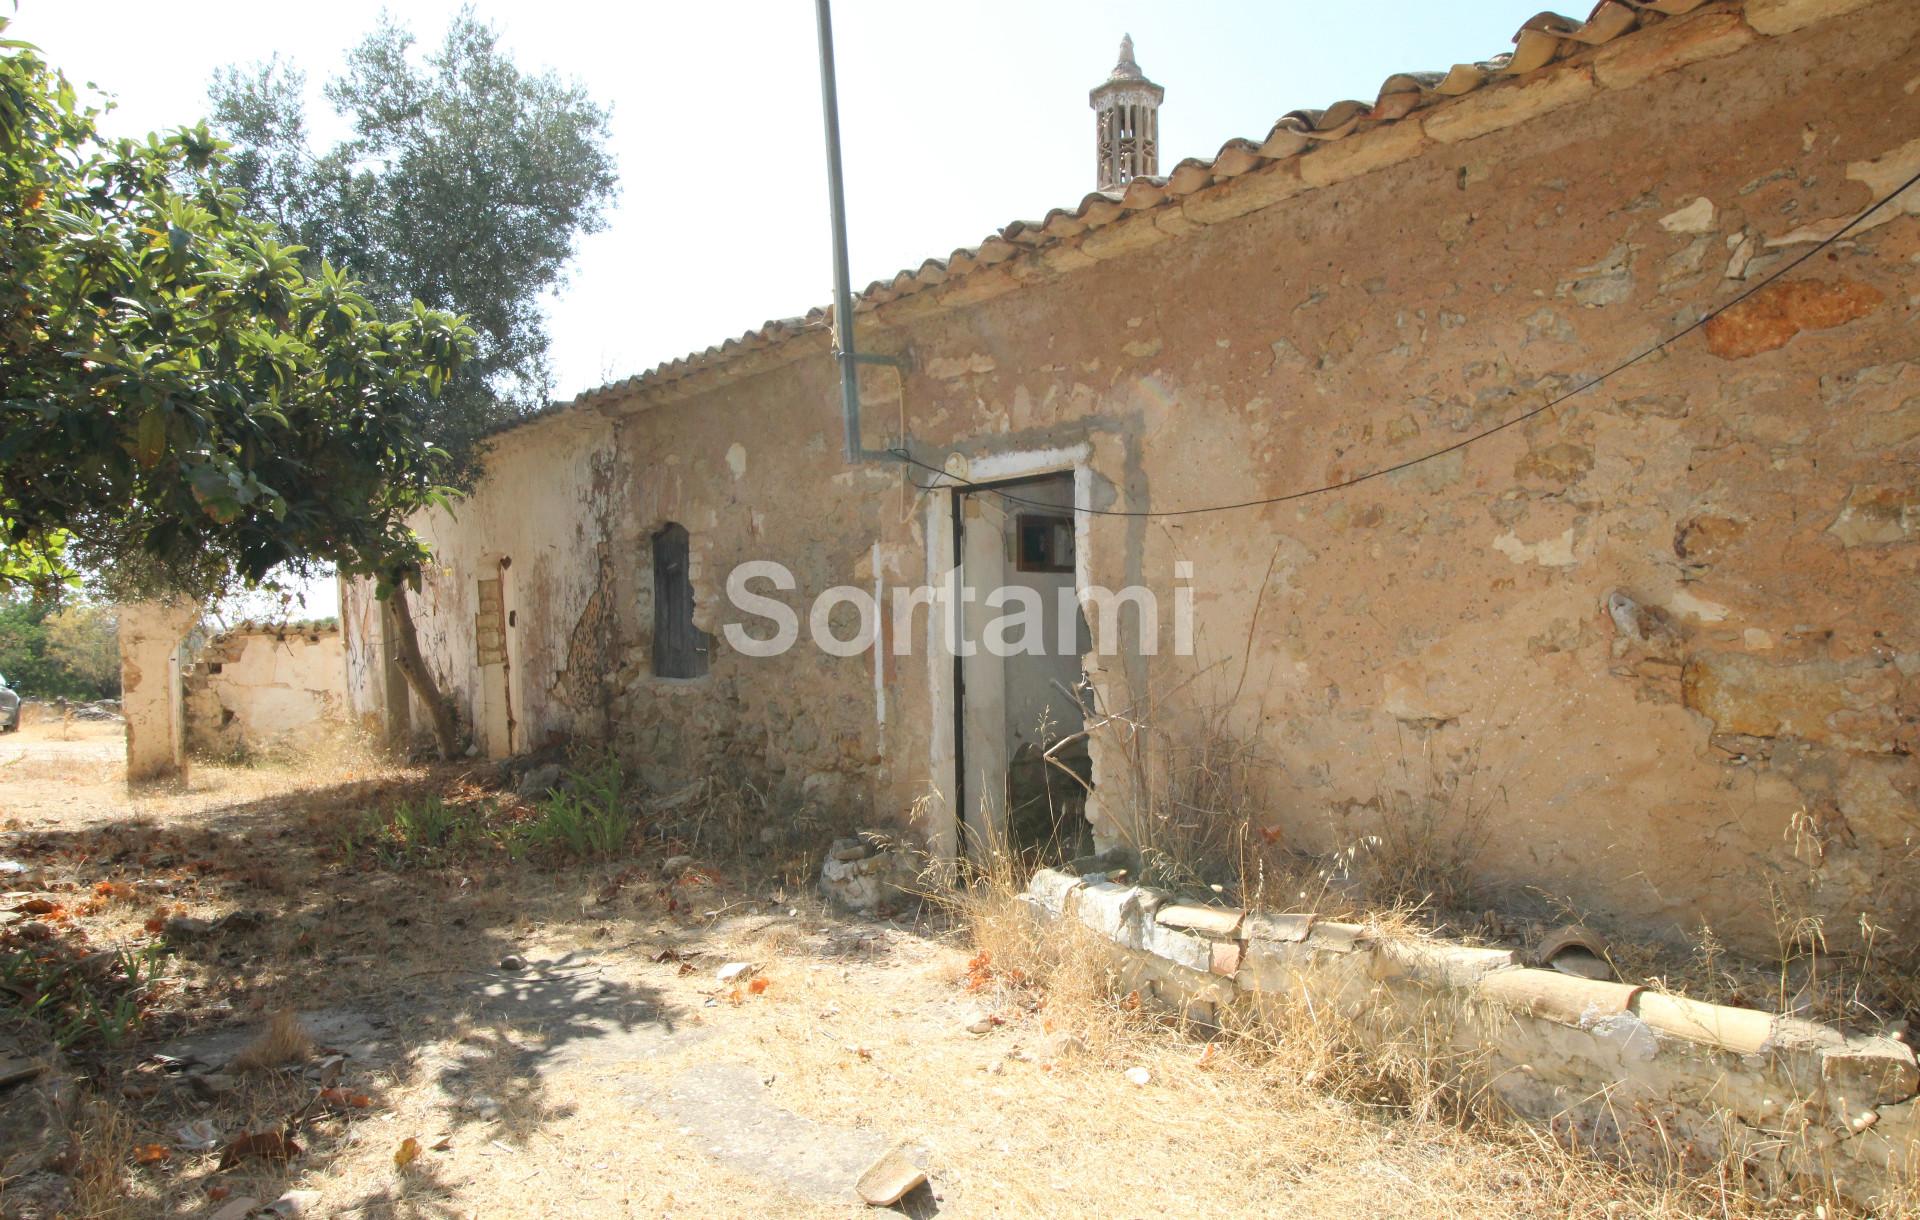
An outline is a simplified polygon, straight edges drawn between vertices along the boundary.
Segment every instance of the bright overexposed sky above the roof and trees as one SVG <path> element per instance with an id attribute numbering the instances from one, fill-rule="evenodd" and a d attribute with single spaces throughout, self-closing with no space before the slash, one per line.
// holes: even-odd
<path id="1" fill-rule="evenodd" d="M 459 0 L 19 0 L 6 37 L 111 94 L 111 134 L 192 123 L 217 67 L 280 54 L 307 73 L 309 131 L 330 138 L 344 125 L 321 85 L 382 8 L 432 44 Z M 808 0 L 474 10 L 522 69 L 612 106 L 620 198 L 547 304 L 561 398 L 829 302 Z M 1125 33 L 1167 90 L 1167 171 L 1265 136 L 1288 110 L 1373 100 L 1396 71 L 1509 50 L 1530 13 L 1523 0 L 837 0 L 854 290 L 1092 190 L 1087 90 Z M 332 582 L 303 613 L 336 613 Z"/>

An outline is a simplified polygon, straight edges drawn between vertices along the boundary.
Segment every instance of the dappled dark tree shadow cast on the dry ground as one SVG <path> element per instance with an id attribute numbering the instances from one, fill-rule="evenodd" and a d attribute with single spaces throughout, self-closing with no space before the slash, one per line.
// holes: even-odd
<path id="1" fill-rule="evenodd" d="M 484 1124 L 490 1139 L 524 1147 L 572 1112 L 545 1087 L 557 1066 L 651 1053 L 684 1036 L 660 991 L 609 968 L 641 934 L 636 920 L 653 915 L 643 907 L 599 920 L 605 951 L 520 961 L 543 932 L 582 920 L 578 891 L 607 868 L 538 868 L 497 851 L 403 870 L 342 859 L 340 826 L 422 792 L 486 799 L 457 770 L 440 770 L 246 799 L 184 824 L 129 817 L 0 832 L 0 855 L 75 907 L 61 936 L 90 947 L 163 939 L 177 955 L 169 974 L 179 982 L 138 1037 L 77 1057 L 92 1087 L 127 1099 L 144 1134 L 194 1118 L 213 1118 L 223 1135 L 286 1122 L 292 1099 L 319 1082 L 273 1091 L 280 1112 L 257 1110 L 267 1095 L 248 1082 L 211 1109 L 205 1089 L 180 1082 L 125 1086 L 146 1080 L 142 1061 L 161 1045 L 209 1047 L 186 1074 L 217 1076 L 275 1011 L 349 1013 L 363 1020 L 342 1036 L 348 1045 L 323 1045 L 348 1055 L 340 1084 L 372 1091 L 355 1082 L 378 1074 L 396 1091 L 432 1086 L 447 1099 L 449 1130 Z M 221 922 L 232 913 L 246 915 Z M 167 920 L 175 926 L 161 930 Z M 309 1162 L 328 1159 L 351 1120 L 300 1116 Z M 301 1168 L 250 1162 L 221 1174 L 211 1157 L 180 1159 L 163 1193 L 180 1207 L 221 1183 L 271 1201 L 263 1191 L 284 1189 Z M 382 1185 L 355 1210 L 426 1216 L 438 1207 L 430 1174 L 409 1170 L 403 1187 Z"/>

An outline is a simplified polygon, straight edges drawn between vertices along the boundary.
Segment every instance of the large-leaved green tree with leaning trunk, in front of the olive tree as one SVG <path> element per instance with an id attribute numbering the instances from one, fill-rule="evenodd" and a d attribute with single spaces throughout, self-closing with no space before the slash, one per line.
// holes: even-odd
<path id="1" fill-rule="evenodd" d="M 303 269 L 205 127 L 108 144 L 94 121 L 0 44 L 0 582 L 207 598 L 332 563 L 411 628 L 407 519 L 453 475 L 426 423 L 472 332 Z M 399 651 L 449 753 L 411 630 Z"/>

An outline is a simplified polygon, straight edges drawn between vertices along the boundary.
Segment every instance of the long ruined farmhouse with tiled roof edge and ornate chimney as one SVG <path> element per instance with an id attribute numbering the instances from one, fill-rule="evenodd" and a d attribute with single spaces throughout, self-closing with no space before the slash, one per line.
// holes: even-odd
<path id="1" fill-rule="evenodd" d="M 1050 828 L 1112 843 L 1225 742 L 1302 851 L 1457 818 L 1478 880 L 1622 928 L 1912 932 L 1920 188 L 1841 229 L 1920 171 L 1920 6 L 1603 0 L 1169 167 L 1162 100 L 1127 48 L 1094 194 L 858 294 L 858 461 L 826 311 L 501 432 L 420 521 L 478 747 L 954 855 L 1033 830 L 1048 749 L 1091 780 Z M 1044 647 L 897 613 L 956 567 Z M 799 644 L 749 655 L 739 590 Z"/>

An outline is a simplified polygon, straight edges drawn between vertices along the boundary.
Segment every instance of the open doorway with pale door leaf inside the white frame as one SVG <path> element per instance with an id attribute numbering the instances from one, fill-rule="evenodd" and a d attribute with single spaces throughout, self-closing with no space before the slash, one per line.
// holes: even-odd
<path id="1" fill-rule="evenodd" d="M 996 494 L 1000 492 L 1000 494 Z M 954 492 L 972 649 L 954 657 L 956 778 L 972 847 L 1056 863 L 1089 845 L 1073 475 Z"/>

